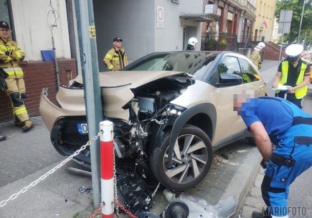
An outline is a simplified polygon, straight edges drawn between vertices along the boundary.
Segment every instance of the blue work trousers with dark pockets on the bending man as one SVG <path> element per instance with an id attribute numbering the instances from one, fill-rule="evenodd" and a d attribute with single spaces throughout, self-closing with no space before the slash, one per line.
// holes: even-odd
<path id="1" fill-rule="evenodd" d="M 288 215 L 289 186 L 312 165 L 312 129 L 306 127 L 293 126 L 279 138 L 265 170 L 262 197 L 273 217 Z"/>

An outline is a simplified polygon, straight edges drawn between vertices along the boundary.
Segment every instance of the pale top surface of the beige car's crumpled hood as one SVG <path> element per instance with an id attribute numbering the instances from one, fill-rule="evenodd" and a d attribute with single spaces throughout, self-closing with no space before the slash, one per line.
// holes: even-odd
<path id="1" fill-rule="evenodd" d="M 126 86 L 129 89 L 133 89 L 156 79 L 177 74 L 184 74 L 188 77 L 192 77 L 192 75 L 189 75 L 188 73 L 176 71 L 117 71 L 100 72 L 99 81 L 101 88 L 117 88 Z M 80 74 L 74 80 L 83 84 L 82 76 Z"/>

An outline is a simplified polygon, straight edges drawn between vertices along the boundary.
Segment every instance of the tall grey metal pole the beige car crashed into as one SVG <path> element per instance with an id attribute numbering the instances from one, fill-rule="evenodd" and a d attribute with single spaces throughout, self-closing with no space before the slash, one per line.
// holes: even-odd
<path id="1" fill-rule="evenodd" d="M 98 52 L 95 35 L 90 35 L 90 27 L 95 26 L 92 1 L 79 0 L 82 49 L 85 55 L 82 73 L 89 139 L 99 132 L 99 122 L 103 120 L 103 109 L 99 86 Z M 90 145 L 92 188 L 94 207 L 100 206 L 100 165 L 99 139 Z"/>

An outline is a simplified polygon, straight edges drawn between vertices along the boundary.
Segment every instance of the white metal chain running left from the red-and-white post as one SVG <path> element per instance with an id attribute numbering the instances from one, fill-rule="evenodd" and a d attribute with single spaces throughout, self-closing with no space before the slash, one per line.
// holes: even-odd
<path id="1" fill-rule="evenodd" d="M 77 151 L 75 151 L 74 154 L 72 154 L 71 156 L 69 156 L 67 159 L 65 159 L 64 161 L 62 161 L 59 165 L 55 166 L 53 169 L 51 169 L 49 172 L 47 172 L 46 174 L 44 174 L 43 176 L 41 176 L 38 180 L 30 183 L 28 186 L 23 187 L 18 193 L 13 194 L 10 196 L 10 198 L 8 198 L 7 200 L 2 200 L 0 202 L 0 207 L 3 207 L 9 200 L 14 200 L 16 199 L 21 193 L 25 193 L 30 187 L 35 186 L 38 182 L 44 180 L 46 177 L 48 177 L 49 175 L 51 175 L 52 173 L 54 173 L 57 169 L 59 169 L 61 166 L 63 166 L 64 164 L 66 164 L 67 162 L 69 162 L 70 160 L 72 160 L 75 156 L 77 156 L 80 151 L 83 151 L 84 149 L 86 149 L 87 146 L 91 145 L 95 140 L 98 139 L 98 137 L 100 135 L 103 134 L 103 131 L 100 131 L 98 133 L 98 135 L 96 135 L 95 137 L 93 137 L 90 141 L 87 142 L 86 145 L 82 145 L 81 148 Z"/>

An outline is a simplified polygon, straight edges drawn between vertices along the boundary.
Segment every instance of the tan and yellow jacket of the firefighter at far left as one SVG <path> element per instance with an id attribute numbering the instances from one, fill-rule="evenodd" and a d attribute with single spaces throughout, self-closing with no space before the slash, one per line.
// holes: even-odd
<path id="1" fill-rule="evenodd" d="M 8 54 L 6 54 L 8 53 Z M 8 37 L 7 41 L 0 36 L 0 67 L 9 74 L 10 78 L 23 78 L 23 71 L 18 63 L 25 57 L 15 41 Z"/>

